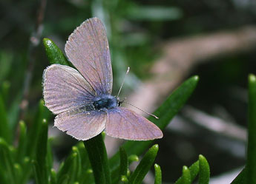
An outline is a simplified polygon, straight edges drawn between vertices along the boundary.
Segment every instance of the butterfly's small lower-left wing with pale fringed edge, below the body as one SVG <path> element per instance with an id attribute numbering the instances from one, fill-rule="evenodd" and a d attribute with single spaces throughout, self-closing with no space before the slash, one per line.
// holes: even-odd
<path id="1" fill-rule="evenodd" d="M 106 112 L 73 109 L 57 115 L 54 126 L 77 140 L 88 140 L 105 129 Z"/>

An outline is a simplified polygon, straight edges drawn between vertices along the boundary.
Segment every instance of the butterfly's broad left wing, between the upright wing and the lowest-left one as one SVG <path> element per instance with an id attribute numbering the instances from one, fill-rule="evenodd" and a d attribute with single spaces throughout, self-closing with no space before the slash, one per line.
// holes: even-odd
<path id="1" fill-rule="evenodd" d="M 60 64 L 45 69 L 43 88 L 45 106 L 53 114 L 84 106 L 95 96 L 95 91 L 76 69 Z"/>

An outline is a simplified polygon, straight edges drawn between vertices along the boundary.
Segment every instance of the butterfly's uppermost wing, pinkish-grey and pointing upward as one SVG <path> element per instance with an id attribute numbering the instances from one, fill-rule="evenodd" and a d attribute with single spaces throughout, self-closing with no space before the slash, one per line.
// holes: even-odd
<path id="1" fill-rule="evenodd" d="M 99 18 L 89 18 L 77 27 L 65 44 L 65 52 L 96 95 L 111 94 L 111 56 L 105 28 Z"/>

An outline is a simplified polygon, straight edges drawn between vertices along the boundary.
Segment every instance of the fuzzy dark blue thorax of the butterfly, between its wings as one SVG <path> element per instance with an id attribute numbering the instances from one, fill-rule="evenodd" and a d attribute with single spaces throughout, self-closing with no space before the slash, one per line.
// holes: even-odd
<path id="1" fill-rule="evenodd" d="M 119 106 L 119 101 L 111 95 L 104 95 L 101 98 L 96 98 L 93 102 L 95 109 L 112 109 Z"/>

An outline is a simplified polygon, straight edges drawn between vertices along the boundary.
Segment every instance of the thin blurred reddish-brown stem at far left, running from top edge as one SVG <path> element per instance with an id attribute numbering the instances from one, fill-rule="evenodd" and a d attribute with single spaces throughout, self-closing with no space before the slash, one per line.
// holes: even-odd
<path id="1" fill-rule="evenodd" d="M 28 66 L 27 66 L 27 71 L 25 73 L 25 77 L 24 77 L 22 103 L 20 104 L 20 109 L 21 109 L 20 119 L 24 119 L 24 112 L 26 111 L 28 106 L 30 83 L 33 75 L 33 69 L 35 66 L 35 58 L 36 58 L 35 51 L 40 43 L 41 36 L 42 36 L 42 30 L 43 30 L 42 22 L 45 17 L 46 4 L 47 4 L 47 0 L 40 1 L 38 15 L 36 17 L 35 30 L 30 36 L 30 42 L 29 42 L 28 51 L 27 51 Z"/>

